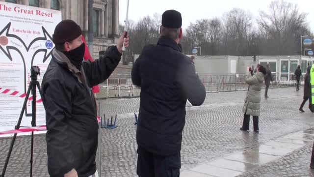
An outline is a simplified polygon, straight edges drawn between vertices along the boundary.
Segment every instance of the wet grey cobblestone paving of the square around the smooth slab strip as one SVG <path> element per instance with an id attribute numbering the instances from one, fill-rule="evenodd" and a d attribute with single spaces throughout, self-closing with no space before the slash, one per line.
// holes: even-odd
<path id="1" fill-rule="evenodd" d="M 306 113 L 298 112 L 303 91 L 280 88 L 270 89 L 268 93 L 270 98 L 262 98 L 258 136 L 252 130 L 243 133 L 239 128 L 243 119 L 242 105 L 245 93 L 245 91 L 209 93 L 202 106 L 187 105 L 181 151 L 183 170 L 314 127 L 314 115 L 306 109 L 307 106 L 304 107 Z M 98 102 L 101 103 L 101 115 L 105 114 L 106 118 L 109 118 L 118 114 L 116 129 L 102 129 L 102 176 L 136 177 L 136 126 L 132 113 L 138 111 L 139 99 L 104 99 Z M 253 129 L 252 122 L 250 128 Z M 0 168 L 4 165 L 10 141 L 10 138 L 0 139 Z M 313 176 L 313 172 L 308 168 L 311 146 L 312 142 L 307 142 L 303 148 L 296 149 L 275 162 L 252 168 L 242 176 L 269 177 L 270 173 L 275 176 L 298 173 L 301 175 L 295 176 Z M 36 135 L 34 177 L 48 176 L 46 150 L 45 136 Z M 18 137 L 6 176 L 29 176 L 29 159 L 30 137 Z M 294 170 L 292 173 L 295 168 L 299 171 Z"/>

